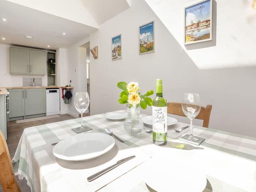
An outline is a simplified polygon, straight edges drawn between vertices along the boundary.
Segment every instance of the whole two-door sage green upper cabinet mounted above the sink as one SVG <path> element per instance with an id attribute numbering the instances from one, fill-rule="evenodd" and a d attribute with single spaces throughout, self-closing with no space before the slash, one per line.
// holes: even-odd
<path id="1" fill-rule="evenodd" d="M 46 51 L 10 47 L 11 74 L 46 74 Z"/>

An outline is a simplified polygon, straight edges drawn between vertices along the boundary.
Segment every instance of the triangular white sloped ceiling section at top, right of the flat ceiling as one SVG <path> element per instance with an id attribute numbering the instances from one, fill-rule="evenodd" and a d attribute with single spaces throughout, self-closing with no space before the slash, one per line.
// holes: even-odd
<path id="1" fill-rule="evenodd" d="M 81 2 L 99 25 L 130 8 L 126 0 L 81 0 Z"/>

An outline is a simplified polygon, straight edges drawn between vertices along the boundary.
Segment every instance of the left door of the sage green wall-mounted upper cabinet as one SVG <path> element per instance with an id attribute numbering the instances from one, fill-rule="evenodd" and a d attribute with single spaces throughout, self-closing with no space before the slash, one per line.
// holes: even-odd
<path id="1" fill-rule="evenodd" d="M 10 48 L 10 73 L 29 74 L 30 50 Z"/>

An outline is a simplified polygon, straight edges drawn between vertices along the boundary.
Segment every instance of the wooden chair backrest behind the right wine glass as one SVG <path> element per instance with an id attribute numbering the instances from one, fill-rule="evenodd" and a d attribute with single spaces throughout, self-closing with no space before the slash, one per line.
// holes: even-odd
<path id="1" fill-rule="evenodd" d="M 207 105 L 206 107 L 201 106 L 201 110 L 198 116 L 196 116 L 196 119 L 204 120 L 203 127 L 208 128 L 209 126 L 211 110 L 212 110 L 212 105 Z M 179 115 L 179 116 L 185 116 L 185 114 L 182 111 L 181 103 L 177 103 L 177 102 L 167 103 L 167 113 Z"/>

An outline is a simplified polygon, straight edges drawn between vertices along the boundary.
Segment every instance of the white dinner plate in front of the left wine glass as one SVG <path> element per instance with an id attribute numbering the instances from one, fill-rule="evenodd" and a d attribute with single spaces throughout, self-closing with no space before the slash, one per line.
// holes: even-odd
<path id="1" fill-rule="evenodd" d="M 114 144 L 114 138 L 107 134 L 78 134 L 58 142 L 52 152 L 60 159 L 83 161 L 108 152 Z"/>

